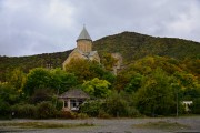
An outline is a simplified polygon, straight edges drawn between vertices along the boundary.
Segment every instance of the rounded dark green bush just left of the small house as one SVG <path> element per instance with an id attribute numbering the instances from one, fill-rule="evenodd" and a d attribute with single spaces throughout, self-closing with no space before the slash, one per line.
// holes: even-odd
<path id="1" fill-rule="evenodd" d="M 51 102 L 41 102 L 37 104 L 37 119 L 52 119 L 57 116 L 56 106 Z"/>

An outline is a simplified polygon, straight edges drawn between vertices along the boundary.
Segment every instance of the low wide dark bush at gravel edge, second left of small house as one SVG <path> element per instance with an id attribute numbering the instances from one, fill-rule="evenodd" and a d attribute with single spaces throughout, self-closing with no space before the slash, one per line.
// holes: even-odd
<path id="1" fill-rule="evenodd" d="M 33 119 L 36 116 L 37 108 L 33 104 L 16 104 L 12 106 L 14 112 L 13 117 Z"/>

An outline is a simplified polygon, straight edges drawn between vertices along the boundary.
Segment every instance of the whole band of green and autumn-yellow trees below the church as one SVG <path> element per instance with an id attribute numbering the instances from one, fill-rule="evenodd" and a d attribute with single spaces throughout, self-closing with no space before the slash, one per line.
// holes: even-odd
<path id="1" fill-rule="evenodd" d="M 7 72 L 6 82 L 0 82 L 0 117 L 167 116 L 176 115 L 177 105 L 179 114 L 200 113 L 198 59 L 148 55 L 117 76 L 109 71 L 114 61 L 108 59 L 104 65 L 74 59 L 66 71 L 36 68 L 24 73 L 16 68 Z M 91 99 L 78 114 L 66 113 L 58 95 L 74 88 Z M 188 112 L 182 101 L 193 102 Z"/>

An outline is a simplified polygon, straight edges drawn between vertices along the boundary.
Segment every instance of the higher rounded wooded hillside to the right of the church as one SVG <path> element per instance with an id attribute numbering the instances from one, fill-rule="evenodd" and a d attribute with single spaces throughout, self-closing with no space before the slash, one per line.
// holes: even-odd
<path id="1" fill-rule="evenodd" d="M 129 63 L 146 55 L 167 55 L 176 59 L 199 58 L 200 43 L 172 38 L 154 38 L 134 32 L 122 32 L 94 41 L 94 49 L 103 52 L 119 52 Z"/>

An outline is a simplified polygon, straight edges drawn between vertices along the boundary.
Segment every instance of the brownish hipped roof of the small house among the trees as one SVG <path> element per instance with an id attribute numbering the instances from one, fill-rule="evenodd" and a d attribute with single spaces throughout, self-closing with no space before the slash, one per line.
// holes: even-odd
<path id="1" fill-rule="evenodd" d="M 64 92 L 63 94 L 61 94 L 59 98 L 89 99 L 90 96 L 80 89 L 71 89 L 71 90 Z"/>

